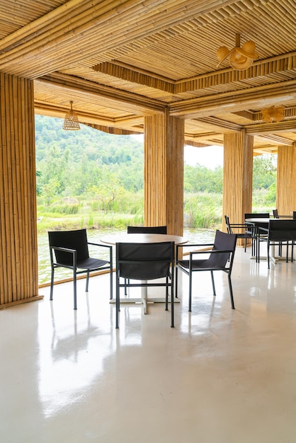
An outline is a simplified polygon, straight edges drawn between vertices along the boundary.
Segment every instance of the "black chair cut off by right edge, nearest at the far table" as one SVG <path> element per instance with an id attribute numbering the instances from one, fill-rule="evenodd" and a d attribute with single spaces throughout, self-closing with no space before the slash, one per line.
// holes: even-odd
<path id="1" fill-rule="evenodd" d="M 261 230 L 265 231 L 265 236 L 259 237 L 258 248 L 260 250 L 260 243 L 262 241 L 267 242 L 267 260 L 268 260 L 268 269 L 270 269 L 270 247 L 272 246 L 286 246 L 286 262 L 288 262 L 288 252 L 289 246 L 291 246 L 291 261 L 293 261 L 293 249 L 296 241 L 296 220 L 279 220 L 274 219 L 269 221 L 268 229 Z"/>

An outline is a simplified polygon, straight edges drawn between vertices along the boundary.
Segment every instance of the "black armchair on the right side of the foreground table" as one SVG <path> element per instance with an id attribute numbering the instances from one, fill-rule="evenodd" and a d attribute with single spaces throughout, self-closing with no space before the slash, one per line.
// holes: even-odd
<path id="1" fill-rule="evenodd" d="M 232 265 L 234 260 L 234 251 L 237 246 L 237 234 L 226 234 L 222 231 L 216 231 L 215 241 L 214 243 L 205 243 L 205 244 L 186 244 L 187 247 L 203 247 L 210 248 L 210 251 L 193 251 L 190 252 L 189 260 L 179 260 L 178 259 L 178 251 L 182 245 L 176 246 L 176 291 L 178 288 L 178 270 L 185 272 L 189 276 L 189 307 L 188 311 L 191 311 L 191 292 L 192 292 L 192 277 L 193 272 L 200 271 L 210 271 L 212 278 L 212 289 L 214 295 L 216 295 L 215 291 L 215 282 L 214 282 L 214 271 L 223 271 L 228 275 L 228 283 L 229 283 L 229 293 L 230 300 L 232 303 L 232 309 L 234 309 L 234 298 L 232 293 Z M 195 260 L 195 256 L 205 257 Z"/>

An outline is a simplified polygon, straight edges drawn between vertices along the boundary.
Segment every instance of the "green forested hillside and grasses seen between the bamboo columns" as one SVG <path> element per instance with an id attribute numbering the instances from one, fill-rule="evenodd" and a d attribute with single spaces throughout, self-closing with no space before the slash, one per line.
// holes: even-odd
<path id="1" fill-rule="evenodd" d="M 35 115 L 35 134 L 39 231 L 143 222 L 144 152 L 136 137 L 86 125 L 64 131 L 61 119 L 41 115 Z M 254 158 L 254 211 L 275 207 L 276 160 L 274 155 Z M 185 164 L 185 226 L 221 224 L 222 185 L 222 166 Z"/>

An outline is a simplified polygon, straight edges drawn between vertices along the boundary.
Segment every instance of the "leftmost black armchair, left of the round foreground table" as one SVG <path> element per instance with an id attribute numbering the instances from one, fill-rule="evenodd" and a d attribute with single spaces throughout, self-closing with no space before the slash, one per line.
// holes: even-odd
<path id="1" fill-rule="evenodd" d="M 86 229 L 75 231 L 50 231 L 50 263 L 52 277 L 50 282 L 50 300 L 52 300 L 55 269 L 67 267 L 73 270 L 74 309 L 77 309 L 76 275 L 86 272 L 86 292 L 89 290 L 89 273 L 98 270 L 110 271 L 110 299 L 113 298 L 113 260 L 112 246 L 87 241 Z M 89 245 L 108 248 L 109 260 L 101 260 L 89 256 Z"/>

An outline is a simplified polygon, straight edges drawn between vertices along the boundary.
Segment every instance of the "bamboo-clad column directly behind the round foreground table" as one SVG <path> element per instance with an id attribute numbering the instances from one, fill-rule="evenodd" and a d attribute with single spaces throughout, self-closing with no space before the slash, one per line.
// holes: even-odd
<path id="1" fill-rule="evenodd" d="M 183 235 L 184 122 L 151 115 L 144 119 L 144 224 L 166 225 Z"/>

